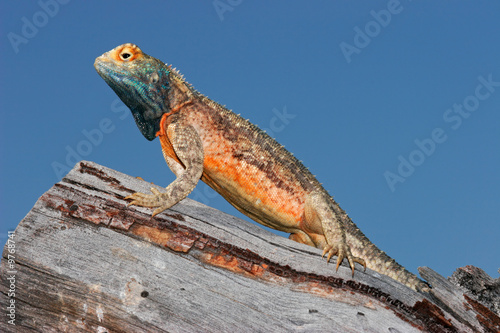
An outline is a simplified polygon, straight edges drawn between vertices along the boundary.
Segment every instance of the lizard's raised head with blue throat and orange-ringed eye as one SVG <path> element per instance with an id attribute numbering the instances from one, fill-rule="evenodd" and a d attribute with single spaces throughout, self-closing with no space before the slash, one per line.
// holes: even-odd
<path id="1" fill-rule="evenodd" d="M 133 44 L 123 44 L 95 60 L 97 73 L 129 107 L 137 127 L 148 140 L 169 112 L 169 69 Z"/>

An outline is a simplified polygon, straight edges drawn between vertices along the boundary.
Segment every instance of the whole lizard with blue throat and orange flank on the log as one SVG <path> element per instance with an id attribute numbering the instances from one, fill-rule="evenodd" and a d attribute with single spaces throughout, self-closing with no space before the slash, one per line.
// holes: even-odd
<path id="1" fill-rule="evenodd" d="M 201 179 L 243 214 L 290 239 L 347 259 L 415 289 L 427 285 L 379 250 L 302 163 L 248 120 L 197 92 L 171 66 L 124 44 L 98 57 L 99 75 L 130 108 L 148 140 L 160 138 L 176 179 L 165 192 L 135 193 L 156 208 L 184 199 Z"/>

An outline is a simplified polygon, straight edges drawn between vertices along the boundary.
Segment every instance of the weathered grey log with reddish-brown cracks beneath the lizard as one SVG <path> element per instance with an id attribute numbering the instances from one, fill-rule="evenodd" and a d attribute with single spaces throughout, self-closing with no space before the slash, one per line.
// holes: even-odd
<path id="1" fill-rule="evenodd" d="M 492 311 L 429 269 L 419 294 L 151 184 L 81 162 L 4 247 L 2 332 L 495 332 Z M 10 259 L 10 261 L 9 261 Z M 358 267 L 360 268 L 360 267 Z M 15 325 L 14 325 L 15 324 Z"/>

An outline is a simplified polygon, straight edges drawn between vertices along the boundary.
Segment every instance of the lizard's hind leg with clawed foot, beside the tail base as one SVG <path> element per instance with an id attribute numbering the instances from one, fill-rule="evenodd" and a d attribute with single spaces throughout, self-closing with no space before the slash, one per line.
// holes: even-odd
<path id="1" fill-rule="evenodd" d="M 337 255 L 337 266 L 338 270 L 342 261 L 347 259 L 349 261 L 349 266 L 352 269 L 352 275 L 354 276 L 354 263 L 357 262 L 363 265 L 366 269 L 366 263 L 362 258 L 358 258 L 352 255 L 351 249 L 347 245 L 345 227 L 341 220 L 341 217 L 335 213 L 332 207 L 332 203 L 328 198 L 320 193 L 313 192 L 310 193 L 305 202 L 305 223 L 310 226 L 311 229 L 321 228 L 323 230 L 323 236 L 326 244 L 321 244 L 324 242 L 319 242 L 317 246 L 323 247 L 323 256 L 327 255 L 327 262 L 334 255 Z M 322 238 L 320 238 L 322 239 Z"/>

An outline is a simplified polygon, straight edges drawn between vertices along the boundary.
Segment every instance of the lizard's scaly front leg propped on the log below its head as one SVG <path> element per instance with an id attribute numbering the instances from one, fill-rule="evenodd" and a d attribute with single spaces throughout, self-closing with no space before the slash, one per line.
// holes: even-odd
<path id="1" fill-rule="evenodd" d="M 165 188 L 165 192 L 160 192 L 151 188 L 153 194 L 134 193 L 125 199 L 132 199 L 129 205 L 143 207 L 156 207 L 153 216 L 168 209 L 188 196 L 198 183 L 203 172 L 203 145 L 200 136 L 190 125 L 182 123 L 172 123 L 165 131 L 177 158 L 185 166 L 184 170 L 178 168 L 177 162 L 167 163 L 177 164 L 174 171 L 177 178 Z M 166 157 L 165 157 L 166 158 Z"/>

